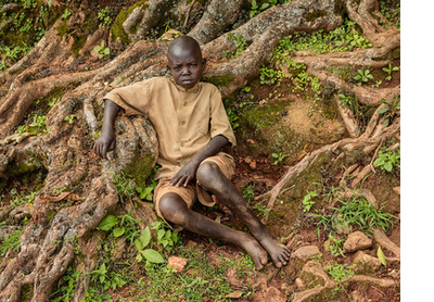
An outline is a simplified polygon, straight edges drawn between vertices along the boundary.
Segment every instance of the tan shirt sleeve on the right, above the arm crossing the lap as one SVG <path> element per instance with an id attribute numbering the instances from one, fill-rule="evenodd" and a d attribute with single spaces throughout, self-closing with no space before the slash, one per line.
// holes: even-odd
<path id="1" fill-rule="evenodd" d="M 224 102 L 221 101 L 221 93 L 217 88 L 210 95 L 210 137 L 222 135 L 225 136 L 232 147 L 237 146 L 235 136 L 229 123 L 228 114 L 226 113 Z"/>

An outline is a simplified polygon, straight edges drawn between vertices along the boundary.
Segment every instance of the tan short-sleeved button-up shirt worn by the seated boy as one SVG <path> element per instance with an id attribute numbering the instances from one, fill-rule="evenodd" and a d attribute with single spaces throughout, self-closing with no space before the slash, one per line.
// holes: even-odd
<path id="1" fill-rule="evenodd" d="M 155 179 L 173 177 L 212 138 L 222 135 L 237 144 L 217 87 L 199 83 L 184 89 L 168 77 L 154 77 L 113 89 L 108 99 L 127 115 L 144 115 L 153 124 L 158 143 Z"/>

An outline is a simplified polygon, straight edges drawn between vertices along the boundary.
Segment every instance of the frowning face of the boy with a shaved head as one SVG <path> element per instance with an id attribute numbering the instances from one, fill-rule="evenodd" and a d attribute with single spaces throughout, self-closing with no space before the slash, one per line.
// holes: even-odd
<path id="1" fill-rule="evenodd" d="M 201 80 L 205 61 L 199 50 L 176 47 L 167 54 L 167 67 L 179 86 L 191 89 Z"/>

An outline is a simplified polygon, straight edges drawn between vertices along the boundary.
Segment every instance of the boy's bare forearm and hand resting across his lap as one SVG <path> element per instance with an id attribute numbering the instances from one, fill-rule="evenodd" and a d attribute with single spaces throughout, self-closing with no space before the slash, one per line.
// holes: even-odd
<path id="1" fill-rule="evenodd" d="M 229 140 L 218 135 L 205 146 L 197 154 L 195 154 L 190 162 L 188 162 L 178 173 L 170 179 L 171 186 L 184 186 L 190 183 L 195 176 L 199 165 L 203 160 L 217 154 L 225 146 L 229 143 Z"/>

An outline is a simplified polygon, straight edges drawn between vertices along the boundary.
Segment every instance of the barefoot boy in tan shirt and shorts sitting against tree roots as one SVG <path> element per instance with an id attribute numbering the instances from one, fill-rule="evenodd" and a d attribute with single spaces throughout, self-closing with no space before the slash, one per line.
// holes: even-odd
<path id="1" fill-rule="evenodd" d="M 277 267 L 286 265 L 289 249 L 256 217 L 229 180 L 234 161 L 220 150 L 237 142 L 218 89 L 200 81 L 205 60 L 197 41 L 188 36 L 176 38 L 167 59 L 173 78 L 146 79 L 105 96 L 103 126 L 94 152 L 106 159 L 107 151 L 115 148 L 113 125 L 120 108 L 127 115 L 148 116 L 159 143 L 157 163 L 162 167 L 155 175 L 159 183 L 154 191 L 158 216 L 241 247 L 257 269 L 267 264 L 267 252 Z M 209 194 L 241 218 L 253 236 L 191 210 L 196 197 L 213 206 Z"/>

